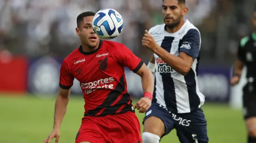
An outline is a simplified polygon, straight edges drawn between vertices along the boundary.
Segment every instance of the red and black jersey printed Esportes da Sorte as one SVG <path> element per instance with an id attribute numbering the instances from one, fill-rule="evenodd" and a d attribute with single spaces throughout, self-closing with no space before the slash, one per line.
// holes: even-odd
<path id="1" fill-rule="evenodd" d="M 143 61 L 125 45 L 100 40 L 99 48 L 84 52 L 82 46 L 63 61 L 60 87 L 69 89 L 74 78 L 84 93 L 85 115 L 104 116 L 133 111 L 127 93 L 124 67 L 137 72 Z"/>

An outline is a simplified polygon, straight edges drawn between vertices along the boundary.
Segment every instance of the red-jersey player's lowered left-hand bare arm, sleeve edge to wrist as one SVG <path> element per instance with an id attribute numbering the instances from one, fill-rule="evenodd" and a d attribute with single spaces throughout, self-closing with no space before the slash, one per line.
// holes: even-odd
<path id="1" fill-rule="evenodd" d="M 67 103 L 69 100 L 71 88 L 69 89 L 59 89 L 59 94 L 57 96 L 54 108 L 54 124 L 53 128 L 60 128 L 62 120 L 67 110 Z"/>

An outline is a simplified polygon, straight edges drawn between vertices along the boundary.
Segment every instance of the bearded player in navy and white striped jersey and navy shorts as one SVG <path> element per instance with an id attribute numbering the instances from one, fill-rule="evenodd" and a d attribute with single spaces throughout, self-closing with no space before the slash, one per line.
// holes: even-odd
<path id="1" fill-rule="evenodd" d="M 185 0 L 163 0 L 164 24 L 145 31 L 142 45 L 154 52 L 148 68 L 155 72 L 152 106 L 143 120 L 143 142 L 158 143 L 174 128 L 182 143 L 208 142 L 201 109 L 205 97 L 199 91 L 199 30 L 184 20 Z"/>

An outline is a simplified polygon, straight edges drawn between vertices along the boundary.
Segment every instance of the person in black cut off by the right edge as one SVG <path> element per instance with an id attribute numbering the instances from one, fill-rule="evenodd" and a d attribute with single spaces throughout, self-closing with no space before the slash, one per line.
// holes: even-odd
<path id="1" fill-rule="evenodd" d="M 247 67 L 247 84 L 243 87 L 243 116 L 248 129 L 248 143 L 256 143 L 256 10 L 251 23 L 253 31 L 240 41 L 230 83 L 238 84 L 243 68 Z"/>

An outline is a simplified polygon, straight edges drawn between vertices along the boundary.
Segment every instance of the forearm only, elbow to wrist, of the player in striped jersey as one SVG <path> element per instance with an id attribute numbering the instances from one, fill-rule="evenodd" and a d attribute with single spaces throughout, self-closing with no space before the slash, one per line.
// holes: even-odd
<path id="1" fill-rule="evenodd" d="M 185 62 L 181 57 L 171 55 L 164 48 L 158 46 L 154 53 L 158 55 L 168 66 L 178 73 L 185 75 L 189 72 L 191 66 L 188 62 Z"/>

